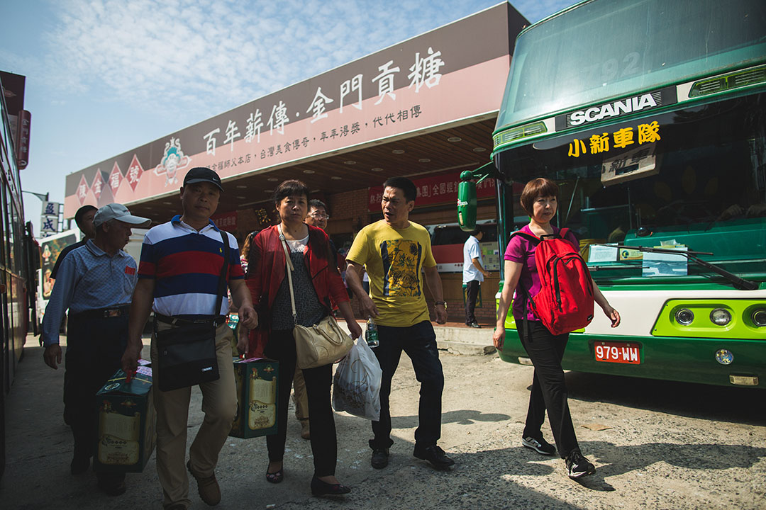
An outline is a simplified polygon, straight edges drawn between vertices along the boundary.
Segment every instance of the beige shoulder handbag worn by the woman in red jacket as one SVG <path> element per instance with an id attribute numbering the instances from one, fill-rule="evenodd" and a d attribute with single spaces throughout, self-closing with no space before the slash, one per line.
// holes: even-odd
<path id="1" fill-rule="evenodd" d="M 317 366 L 329 365 L 342 359 L 351 350 L 354 340 L 343 331 L 335 317 L 328 315 L 319 321 L 319 324 L 306 327 L 298 324 L 298 314 L 295 310 L 295 294 L 293 292 L 293 261 L 290 259 L 290 250 L 282 233 L 282 226 L 277 226 L 280 232 L 280 241 L 285 252 L 287 261 L 287 278 L 290 281 L 290 304 L 293 307 L 293 338 L 299 369 L 313 369 Z"/>

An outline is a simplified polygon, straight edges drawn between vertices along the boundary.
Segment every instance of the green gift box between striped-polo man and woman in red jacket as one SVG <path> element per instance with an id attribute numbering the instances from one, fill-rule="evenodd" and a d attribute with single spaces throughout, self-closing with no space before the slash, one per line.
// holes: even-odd
<path id="1" fill-rule="evenodd" d="M 280 363 L 268 358 L 234 360 L 237 382 L 237 416 L 232 437 L 277 434 L 277 379 Z"/>

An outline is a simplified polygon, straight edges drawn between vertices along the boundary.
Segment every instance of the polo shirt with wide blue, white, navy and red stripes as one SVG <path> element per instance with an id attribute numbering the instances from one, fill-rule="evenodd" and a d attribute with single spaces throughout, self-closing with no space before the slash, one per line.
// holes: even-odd
<path id="1" fill-rule="evenodd" d="M 244 278 L 237 239 L 229 241 L 228 281 Z M 218 278 L 224 263 L 221 231 L 211 221 L 197 231 L 174 216 L 149 229 L 141 247 L 139 278 L 153 278 L 155 313 L 172 316 L 211 316 L 218 297 Z M 224 293 L 220 315 L 229 311 Z"/>

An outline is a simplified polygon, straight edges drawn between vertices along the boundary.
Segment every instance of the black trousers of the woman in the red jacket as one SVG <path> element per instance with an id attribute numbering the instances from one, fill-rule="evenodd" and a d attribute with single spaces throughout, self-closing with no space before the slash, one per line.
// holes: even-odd
<path id="1" fill-rule="evenodd" d="M 267 358 L 280 362 L 280 381 L 277 398 L 277 434 L 266 437 L 269 460 L 283 460 L 287 438 L 287 404 L 295 375 L 296 351 L 293 330 L 273 330 L 264 349 Z M 311 452 L 314 455 L 314 475 L 335 474 L 338 456 L 335 418 L 330 405 L 332 365 L 303 369 L 306 395 L 309 398 L 309 425 L 311 426 Z"/>

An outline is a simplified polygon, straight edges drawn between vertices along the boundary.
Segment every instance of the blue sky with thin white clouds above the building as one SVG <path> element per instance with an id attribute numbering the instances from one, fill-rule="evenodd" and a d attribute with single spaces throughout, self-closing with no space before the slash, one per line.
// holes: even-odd
<path id="1" fill-rule="evenodd" d="M 63 202 L 67 174 L 497 3 L 5 0 L 0 70 L 27 76 L 32 115 L 22 187 Z M 511 3 L 534 22 L 575 0 Z"/>

